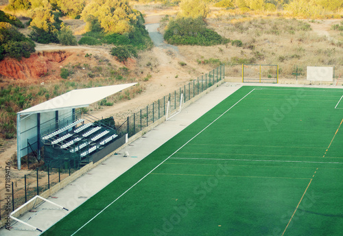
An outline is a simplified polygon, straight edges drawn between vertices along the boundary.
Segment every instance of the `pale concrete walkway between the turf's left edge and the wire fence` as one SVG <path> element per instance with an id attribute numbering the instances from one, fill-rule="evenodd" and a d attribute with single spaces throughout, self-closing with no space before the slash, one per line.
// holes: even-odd
<path id="1" fill-rule="evenodd" d="M 106 185 L 126 172 L 130 167 L 139 163 L 145 156 L 163 145 L 163 143 L 174 137 L 178 132 L 189 126 L 193 121 L 196 121 L 196 119 L 211 110 L 211 108 L 222 102 L 223 99 L 237 91 L 240 87 L 241 84 L 224 82 L 224 84 L 215 88 L 214 91 L 184 108 L 175 117 L 161 123 L 161 125 L 144 134 L 143 137 L 124 147 L 119 154 L 110 156 L 101 165 L 97 165 L 97 167 L 71 182 L 67 187 L 58 191 L 54 196 L 51 196 L 52 198 L 48 198 L 48 200 L 60 204 L 62 207 L 69 209 L 69 211 L 56 209 L 54 205 L 45 202 L 34 209 L 36 212 L 25 213 L 25 215 L 20 217 L 20 220 L 43 231 L 47 230 L 47 228 L 56 224 L 62 217 L 79 207 L 88 198 L 91 198 L 95 193 L 106 187 Z M 124 152 L 128 152 L 129 156 L 124 157 Z M 29 231 L 19 231 L 19 229 L 28 229 Z M 10 231 L 1 228 L 0 235 L 31 236 L 40 235 L 40 232 L 33 231 L 23 224 L 15 223 Z"/>

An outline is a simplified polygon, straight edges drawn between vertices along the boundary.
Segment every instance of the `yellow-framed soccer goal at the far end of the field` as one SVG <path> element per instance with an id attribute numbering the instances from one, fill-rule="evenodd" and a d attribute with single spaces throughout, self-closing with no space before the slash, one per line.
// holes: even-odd
<path id="1" fill-rule="evenodd" d="M 279 65 L 277 64 L 242 64 L 242 82 L 273 83 L 279 82 Z"/>

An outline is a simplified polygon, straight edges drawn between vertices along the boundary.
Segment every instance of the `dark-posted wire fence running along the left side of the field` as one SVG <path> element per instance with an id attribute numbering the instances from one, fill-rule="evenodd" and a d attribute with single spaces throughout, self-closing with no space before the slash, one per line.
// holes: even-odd
<path id="1" fill-rule="evenodd" d="M 170 104 L 169 111 L 173 113 L 180 106 L 181 98 L 182 102 L 187 102 L 223 79 L 224 64 L 179 89 L 171 91 L 171 93 L 142 108 L 139 112 L 133 113 L 120 126 L 117 126 L 117 134 L 122 137 L 128 133 L 128 136 L 132 137 L 132 135 L 164 117 L 167 113 L 168 101 Z M 27 156 L 28 163 L 29 156 Z M 11 175 L 9 165 L 5 175 L 5 187 L 0 189 L 0 220 L 34 196 L 50 189 L 80 169 L 80 167 L 71 168 L 70 165 L 61 165 L 59 168 L 51 168 L 47 165 L 36 167 L 35 165 L 37 163 L 30 163 L 31 169 L 27 167 L 27 170 L 22 170 L 27 172 L 22 178 L 15 178 Z"/>

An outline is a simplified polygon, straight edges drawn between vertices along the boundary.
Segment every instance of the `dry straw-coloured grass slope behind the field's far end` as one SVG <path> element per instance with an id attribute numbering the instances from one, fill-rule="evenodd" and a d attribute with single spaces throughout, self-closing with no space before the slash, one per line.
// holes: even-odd
<path id="1" fill-rule="evenodd" d="M 226 64 L 279 64 L 281 78 L 294 78 L 292 73 L 296 67 L 305 72 L 307 66 L 334 66 L 336 77 L 343 75 L 343 47 L 337 37 L 339 34 L 333 34 L 330 39 L 318 36 L 311 31 L 307 21 L 274 16 L 237 16 L 228 12 L 208 19 L 208 23 L 220 35 L 241 40 L 243 47 L 230 44 L 180 47 L 188 60 L 217 58 Z M 231 76 L 241 76 L 237 69 L 230 73 Z"/>

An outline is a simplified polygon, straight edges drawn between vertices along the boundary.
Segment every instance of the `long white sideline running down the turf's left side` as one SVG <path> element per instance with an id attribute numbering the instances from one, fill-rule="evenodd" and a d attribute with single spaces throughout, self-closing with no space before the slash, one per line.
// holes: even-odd
<path id="1" fill-rule="evenodd" d="M 255 88 L 252 89 L 252 91 L 255 91 Z M 110 205 L 112 205 L 113 203 L 117 202 L 117 200 L 119 200 L 119 198 L 121 198 L 125 193 L 127 193 L 128 191 L 130 191 L 130 189 L 132 189 L 134 186 L 136 186 L 139 182 L 141 182 L 141 180 L 143 180 L 146 176 L 148 176 L 150 173 L 152 173 L 157 167 L 159 167 L 160 165 L 162 165 L 163 163 L 165 163 L 165 161 L 167 161 L 169 158 L 171 158 L 171 156 L 173 156 L 174 154 L 176 154 L 176 152 L 178 152 L 182 147 L 185 147 L 185 145 L 187 145 L 190 141 L 192 141 L 193 139 L 195 139 L 199 134 L 201 134 L 204 130 L 206 130 L 206 128 L 209 128 L 209 126 L 211 126 L 213 123 L 215 123 L 215 121 L 217 121 L 217 119 L 220 119 L 220 117 L 222 117 L 223 115 L 225 115 L 229 110 L 231 110 L 231 108 L 233 108 L 234 106 L 236 106 L 239 102 L 241 102 L 241 100 L 243 100 L 246 96 L 248 96 L 250 93 L 252 93 L 252 91 L 250 91 L 249 93 L 247 93 L 244 97 L 242 97 L 241 99 L 239 99 L 238 102 L 236 102 L 235 104 L 233 104 L 233 106 L 231 106 L 230 108 L 228 108 L 228 110 L 226 110 L 224 113 L 222 113 L 222 115 L 220 115 L 219 117 L 217 117 L 214 121 L 212 121 L 211 123 L 209 123 L 208 126 L 206 126 L 205 128 L 203 128 L 200 132 L 198 132 L 198 134 L 196 134 L 193 138 L 189 139 L 189 141 L 187 141 L 184 145 L 182 145 L 181 147 L 178 148 L 178 150 L 176 150 L 175 152 L 173 152 L 170 156 L 168 156 L 167 158 L 165 158 L 164 161 L 162 161 L 161 163 L 159 163 L 158 165 L 156 165 L 156 167 L 154 167 L 154 169 L 152 169 L 149 173 L 145 174 L 145 176 L 143 176 L 143 178 L 141 178 L 140 180 L 138 180 L 134 185 L 132 185 L 129 189 L 127 189 L 126 191 L 124 191 L 123 193 L 121 193 L 121 196 L 119 196 L 118 198 L 116 198 L 115 200 L 113 200 L 113 202 L 111 202 L 110 204 L 107 205 L 107 207 L 105 207 L 104 209 L 102 209 L 102 211 L 99 211 L 99 213 L 97 213 L 97 215 L 95 215 L 93 218 L 91 218 L 91 220 L 88 220 L 88 222 L 86 222 L 83 226 L 81 226 L 80 228 L 78 228 L 77 231 L 75 231 L 71 236 L 75 235 L 76 233 L 78 233 L 78 231 L 80 231 L 82 228 L 84 228 L 84 226 L 86 226 L 89 222 L 91 222 L 92 220 L 95 219 L 95 217 L 97 217 L 98 215 L 100 215 L 103 211 L 105 211 L 108 207 L 110 207 Z"/>

